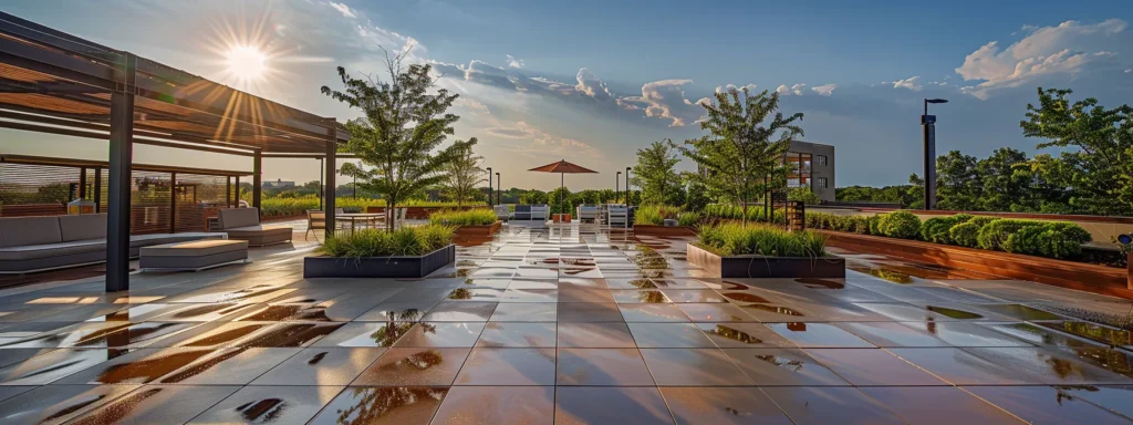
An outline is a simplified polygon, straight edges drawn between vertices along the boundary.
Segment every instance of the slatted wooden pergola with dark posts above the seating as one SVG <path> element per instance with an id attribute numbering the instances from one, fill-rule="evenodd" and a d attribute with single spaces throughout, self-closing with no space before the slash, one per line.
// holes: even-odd
<path id="1" fill-rule="evenodd" d="M 0 128 L 110 142 L 107 291 L 129 289 L 135 143 L 242 155 L 259 207 L 265 155 L 323 158 L 334 226 L 335 151 L 347 133 L 324 118 L 0 12 Z"/>

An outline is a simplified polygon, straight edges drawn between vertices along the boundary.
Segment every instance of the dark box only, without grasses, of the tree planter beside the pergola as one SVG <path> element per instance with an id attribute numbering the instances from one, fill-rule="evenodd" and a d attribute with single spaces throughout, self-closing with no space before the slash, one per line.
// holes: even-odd
<path id="1" fill-rule="evenodd" d="M 308 278 L 424 278 L 457 260 L 457 246 L 449 245 L 421 256 L 394 257 L 305 257 L 303 277 Z"/>

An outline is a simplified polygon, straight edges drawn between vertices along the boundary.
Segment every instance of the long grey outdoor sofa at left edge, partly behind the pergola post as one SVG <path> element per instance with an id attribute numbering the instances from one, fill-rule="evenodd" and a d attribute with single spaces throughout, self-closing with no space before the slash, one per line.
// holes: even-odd
<path id="1" fill-rule="evenodd" d="M 130 235 L 130 257 L 142 247 L 224 233 Z M 0 274 L 23 274 L 107 261 L 107 214 L 0 218 Z"/>

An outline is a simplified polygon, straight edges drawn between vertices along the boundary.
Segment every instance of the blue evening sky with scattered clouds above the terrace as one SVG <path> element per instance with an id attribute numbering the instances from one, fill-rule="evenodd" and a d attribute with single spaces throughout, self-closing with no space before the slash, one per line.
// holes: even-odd
<path id="1" fill-rule="evenodd" d="M 1130 1 L 15 0 L 5 11 L 342 119 L 356 112 L 318 93 L 334 67 L 376 73 L 378 46 L 412 45 L 410 60 L 462 95 L 457 137 L 477 137 L 509 187 L 556 186 L 523 170 L 562 158 L 603 172 L 572 187 L 611 186 L 637 148 L 701 135 L 696 103 L 730 84 L 780 91 L 785 112 L 803 112 L 804 139 L 837 148 L 838 186 L 919 170 L 923 97 L 952 101 L 934 109 L 938 150 L 976 155 L 1033 152 L 1019 121 L 1039 85 L 1110 107 L 1133 99 Z M 264 79 L 227 73 L 224 28 L 270 53 Z M 90 141 L 37 146 L 104 154 Z M 147 147 L 136 161 L 170 159 L 186 160 Z M 310 162 L 265 164 L 265 178 L 316 176 Z"/>

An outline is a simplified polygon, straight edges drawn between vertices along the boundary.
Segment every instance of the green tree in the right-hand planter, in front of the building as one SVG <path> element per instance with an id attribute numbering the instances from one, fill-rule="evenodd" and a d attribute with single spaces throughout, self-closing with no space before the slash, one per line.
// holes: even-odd
<path id="1" fill-rule="evenodd" d="M 786 186 L 783 154 L 803 135 L 794 124 L 802 113 L 784 117 L 777 112 L 778 93 L 765 90 L 752 96 L 747 87 L 742 97 L 732 88 L 701 105 L 708 117 L 700 128 L 709 134 L 685 141 L 680 150 L 704 171 L 696 175 L 700 182 L 743 205 L 747 224 L 749 201 Z"/>

